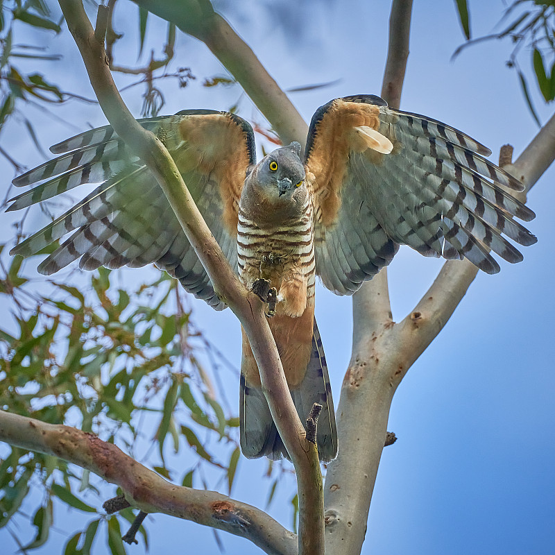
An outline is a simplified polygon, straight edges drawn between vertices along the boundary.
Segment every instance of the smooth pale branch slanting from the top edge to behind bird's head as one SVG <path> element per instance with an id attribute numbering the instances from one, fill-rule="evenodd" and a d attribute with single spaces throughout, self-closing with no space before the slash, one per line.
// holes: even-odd
<path id="1" fill-rule="evenodd" d="M 268 74 L 250 46 L 230 24 L 214 12 L 208 0 L 133 0 L 149 12 L 175 23 L 184 33 L 204 42 L 225 69 L 244 88 L 284 144 L 305 145 L 308 126 L 285 94 Z"/>

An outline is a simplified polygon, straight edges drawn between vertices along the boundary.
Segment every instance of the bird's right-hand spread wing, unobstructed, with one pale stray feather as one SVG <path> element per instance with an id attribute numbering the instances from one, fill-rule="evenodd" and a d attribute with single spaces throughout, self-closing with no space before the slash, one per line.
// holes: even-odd
<path id="1" fill-rule="evenodd" d="M 486 160 L 485 146 L 378 96 L 349 96 L 319 108 L 305 169 L 314 198 L 316 272 L 328 289 L 352 294 L 391 262 L 399 244 L 426 256 L 466 257 L 499 271 L 489 250 L 519 262 L 536 242 L 512 216 L 534 214 L 507 194 L 522 184 Z"/>

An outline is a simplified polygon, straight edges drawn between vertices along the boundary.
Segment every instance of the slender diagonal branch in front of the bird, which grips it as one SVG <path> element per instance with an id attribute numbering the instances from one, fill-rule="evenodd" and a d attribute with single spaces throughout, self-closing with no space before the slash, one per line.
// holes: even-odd
<path id="1" fill-rule="evenodd" d="M 155 176 L 187 239 L 210 276 L 214 290 L 230 306 L 244 327 L 258 364 L 264 395 L 296 470 L 301 515 L 299 552 L 305 554 L 311 552 L 311 549 L 323 552 L 323 497 L 318 454 L 314 445 L 307 441 L 305 429 L 291 400 L 278 350 L 262 311 L 262 302 L 245 289 L 232 271 L 167 149 L 157 137 L 139 126 L 123 103 L 112 80 L 103 43 L 96 40 L 83 3 L 75 0 L 59 1 L 108 121 Z M 99 10 L 105 9 L 99 7 Z"/>

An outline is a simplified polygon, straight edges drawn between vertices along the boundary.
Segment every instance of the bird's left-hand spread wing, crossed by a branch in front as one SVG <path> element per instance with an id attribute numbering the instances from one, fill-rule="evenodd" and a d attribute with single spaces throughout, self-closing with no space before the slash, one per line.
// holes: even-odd
<path id="1" fill-rule="evenodd" d="M 187 110 L 139 123 L 167 146 L 216 241 L 237 268 L 237 207 L 246 171 L 255 163 L 250 125 L 213 110 Z M 73 232 L 39 271 L 51 274 L 78 258 L 87 269 L 154 262 L 187 291 L 216 309 L 225 308 L 154 176 L 110 126 L 67 139 L 51 151 L 65 154 L 15 178 L 18 187 L 40 185 L 13 198 L 8 210 L 83 183 L 100 185 L 12 254 L 32 255 Z"/>

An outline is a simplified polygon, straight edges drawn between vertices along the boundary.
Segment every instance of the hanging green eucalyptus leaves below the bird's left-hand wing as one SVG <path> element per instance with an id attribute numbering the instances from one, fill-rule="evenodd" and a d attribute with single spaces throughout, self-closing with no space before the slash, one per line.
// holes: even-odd
<path id="1" fill-rule="evenodd" d="M 85 288 L 50 282 L 46 294 L 33 291 L 22 268 L 16 257 L 9 268 L 2 267 L 0 279 L 0 294 L 10 299 L 18 328 L 12 332 L 0 325 L 1 409 L 76 425 L 135 456 L 147 449 L 153 468 L 168 479 L 178 477 L 167 454 L 185 450 L 183 459 L 191 467 L 180 479 L 184 485 L 192 486 L 207 465 L 231 490 L 239 461 L 238 419 L 214 396 L 198 357 L 201 350 L 220 360 L 221 355 L 194 329 L 177 282 L 160 273 L 154 282 L 128 291 L 114 287 L 110 271 L 101 268 Z M 146 414 L 158 422 L 153 438 L 142 432 Z M 55 500 L 96 514 L 106 498 L 87 471 L 6 447 L 0 527 L 10 523 L 33 488 L 42 490 L 44 500 L 35 511 L 35 538 L 27 550 L 48 539 Z M 97 515 L 69 538 L 65 552 L 88 553 L 103 529 L 111 552 L 124 553 L 118 518 L 133 521 L 133 513 Z M 99 527 L 105 520 L 108 526 Z"/>

